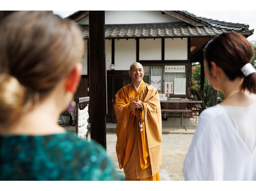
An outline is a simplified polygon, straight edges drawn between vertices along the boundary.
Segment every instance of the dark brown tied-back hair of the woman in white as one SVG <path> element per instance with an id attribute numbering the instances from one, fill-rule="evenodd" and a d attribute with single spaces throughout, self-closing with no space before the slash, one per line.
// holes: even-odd
<path id="1" fill-rule="evenodd" d="M 245 77 L 241 71 L 245 64 L 250 63 L 253 54 L 252 44 L 236 32 L 215 36 L 204 48 L 204 58 L 209 69 L 211 69 L 211 62 L 215 62 L 229 80 L 244 77 L 242 89 L 247 88 L 250 92 L 256 93 L 256 73 Z"/>

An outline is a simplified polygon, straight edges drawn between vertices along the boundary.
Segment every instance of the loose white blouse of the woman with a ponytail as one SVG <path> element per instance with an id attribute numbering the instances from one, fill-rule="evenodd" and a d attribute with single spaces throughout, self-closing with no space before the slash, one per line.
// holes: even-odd
<path id="1" fill-rule="evenodd" d="M 255 104 L 233 117 L 230 111 L 239 109 L 220 104 L 200 114 L 184 161 L 185 180 L 256 180 Z"/>

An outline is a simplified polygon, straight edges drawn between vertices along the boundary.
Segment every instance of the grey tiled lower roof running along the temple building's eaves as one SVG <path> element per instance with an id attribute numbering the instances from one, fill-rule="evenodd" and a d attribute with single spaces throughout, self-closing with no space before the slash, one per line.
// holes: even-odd
<path id="1" fill-rule="evenodd" d="M 206 22 L 206 19 L 203 18 Z M 144 38 L 144 37 L 186 37 L 186 36 L 212 36 L 225 32 L 238 32 L 251 35 L 253 29 L 248 30 L 248 25 L 234 23 L 224 25 L 224 22 L 214 22 L 207 19 L 209 26 L 195 27 L 187 23 L 165 23 L 165 24 L 141 24 L 141 25 L 105 25 L 105 38 Z M 220 22 L 220 23 L 219 23 Z M 246 27 L 248 26 L 248 27 Z M 89 37 L 89 27 L 81 26 L 84 38 Z"/>

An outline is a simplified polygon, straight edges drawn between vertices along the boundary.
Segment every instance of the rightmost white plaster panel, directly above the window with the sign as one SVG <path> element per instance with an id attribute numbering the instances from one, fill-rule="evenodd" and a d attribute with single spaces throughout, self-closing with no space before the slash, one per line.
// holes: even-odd
<path id="1" fill-rule="evenodd" d="M 188 38 L 166 38 L 164 40 L 164 60 L 187 60 Z"/>

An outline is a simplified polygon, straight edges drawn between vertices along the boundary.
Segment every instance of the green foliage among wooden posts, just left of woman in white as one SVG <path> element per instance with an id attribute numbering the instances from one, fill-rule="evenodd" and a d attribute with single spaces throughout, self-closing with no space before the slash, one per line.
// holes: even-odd
<path id="1" fill-rule="evenodd" d="M 200 73 L 201 66 L 192 66 L 192 86 L 191 93 L 195 97 L 195 91 L 200 91 Z M 224 96 L 221 91 L 217 91 L 218 103 L 224 100 Z M 212 106 L 212 86 L 209 80 L 204 77 L 204 103 L 206 106 Z"/>

